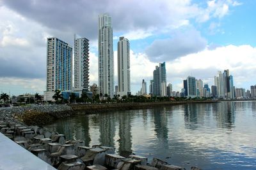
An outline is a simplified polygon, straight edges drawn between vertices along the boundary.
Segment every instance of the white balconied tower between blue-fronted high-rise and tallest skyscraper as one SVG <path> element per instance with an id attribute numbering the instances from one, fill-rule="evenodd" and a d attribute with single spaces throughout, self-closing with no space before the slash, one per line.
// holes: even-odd
<path id="1" fill-rule="evenodd" d="M 89 40 L 74 38 L 74 91 L 87 92 L 89 87 Z"/>

